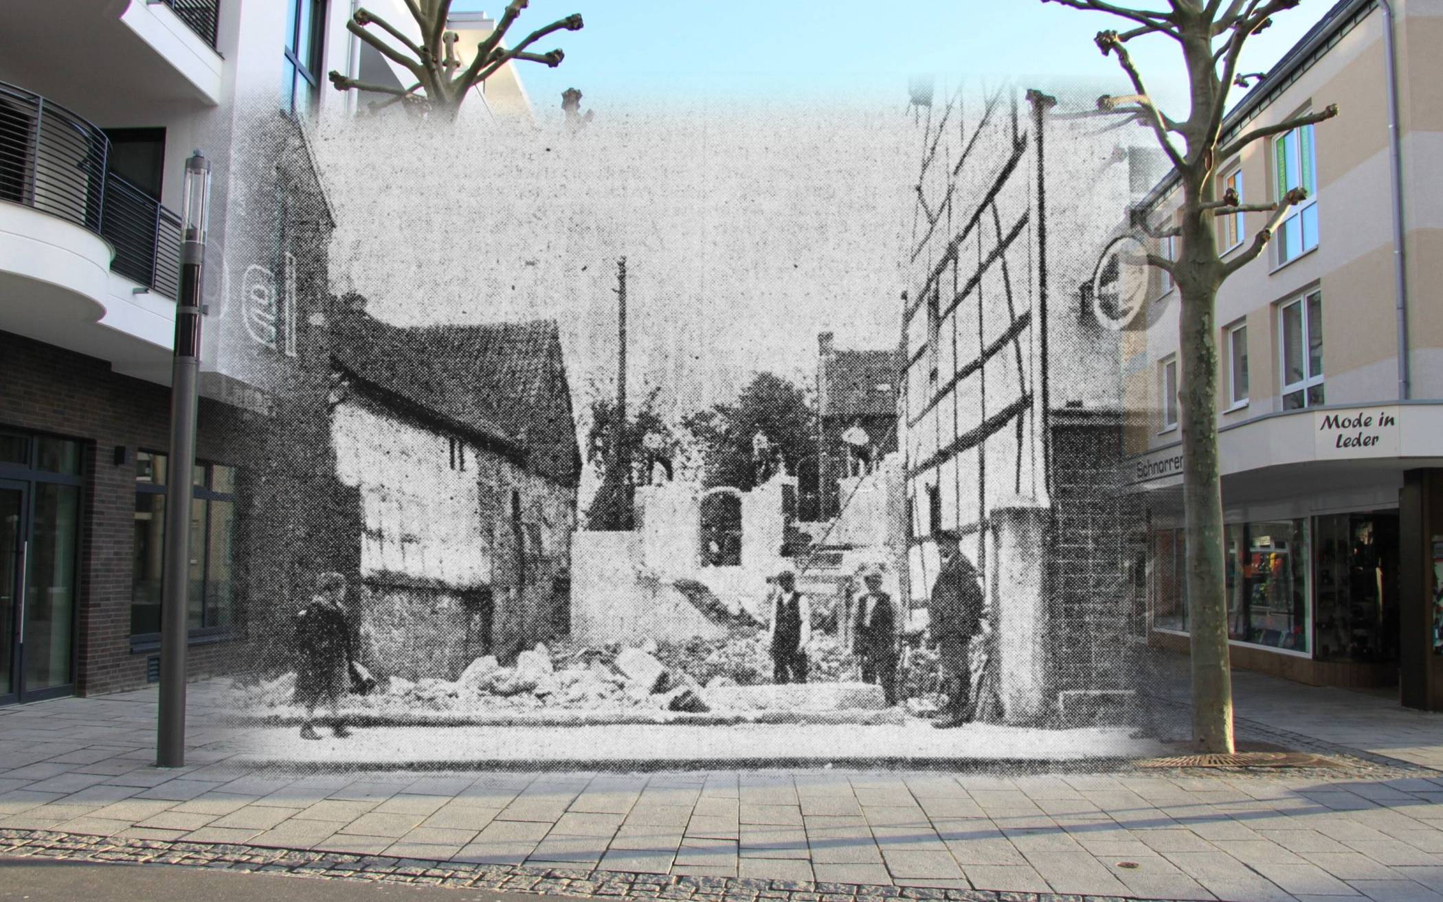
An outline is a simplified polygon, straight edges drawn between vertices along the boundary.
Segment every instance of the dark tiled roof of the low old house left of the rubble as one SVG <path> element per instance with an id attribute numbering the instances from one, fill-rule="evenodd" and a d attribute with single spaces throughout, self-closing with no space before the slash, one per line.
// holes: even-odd
<path id="1" fill-rule="evenodd" d="M 392 326 L 361 312 L 336 325 L 332 358 L 361 380 L 483 443 L 580 479 L 571 393 L 554 320 Z"/>

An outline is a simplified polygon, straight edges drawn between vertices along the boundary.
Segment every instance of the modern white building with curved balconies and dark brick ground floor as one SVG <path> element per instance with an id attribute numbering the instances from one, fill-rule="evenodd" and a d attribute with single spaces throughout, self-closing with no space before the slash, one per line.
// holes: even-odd
<path id="1" fill-rule="evenodd" d="M 195 149 L 212 182 L 192 675 L 242 660 L 317 570 L 354 563 L 328 531 L 348 496 L 326 416 L 335 222 L 310 152 L 322 117 L 358 108 L 325 76 L 361 74 L 352 9 L 0 6 L 0 704 L 157 677 L 177 211 Z M 408 19 L 400 1 L 382 10 Z M 479 105 L 525 108 L 509 65 L 498 78 Z"/>

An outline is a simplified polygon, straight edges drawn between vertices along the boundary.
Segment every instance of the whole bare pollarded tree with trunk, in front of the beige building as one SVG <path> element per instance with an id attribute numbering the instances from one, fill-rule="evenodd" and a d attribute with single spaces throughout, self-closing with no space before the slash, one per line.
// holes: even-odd
<path id="1" fill-rule="evenodd" d="M 1208 752 L 1234 752 L 1232 680 L 1228 671 L 1228 622 L 1224 573 L 1222 489 L 1218 476 L 1218 335 L 1215 300 L 1228 276 L 1251 263 L 1267 247 L 1274 229 L 1306 192 L 1291 189 L 1276 203 L 1240 203 L 1228 191 L 1216 189 L 1216 166 L 1253 141 L 1320 123 L 1338 114 L 1328 107 L 1276 126 L 1244 131 L 1221 144 L 1228 89 L 1247 87 L 1257 74 L 1240 74 L 1238 58 L 1248 36 L 1273 23 L 1273 16 L 1293 9 L 1300 0 L 1166 0 L 1167 9 L 1150 10 L 1104 0 L 1042 0 L 1079 10 L 1126 19 L 1124 32 L 1098 32 L 1097 46 L 1115 56 L 1131 84 L 1131 92 L 1102 97 L 1098 107 L 1131 113 L 1150 127 L 1167 154 L 1182 195 L 1176 218 L 1156 228 L 1147 211 L 1134 216 L 1136 227 L 1153 238 L 1176 237 L 1176 258 L 1149 254 L 1147 263 L 1167 271 L 1177 286 L 1179 361 L 1182 368 L 1180 413 L 1183 450 L 1183 505 L 1186 517 L 1186 587 L 1192 634 L 1192 727 L 1193 739 Z M 1192 110 L 1173 118 L 1153 101 L 1143 76 L 1133 65 L 1127 43 L 1159 35 L 1182 49 Z M 1180 146 L 1179 146 L 1180 139 Z M 1216 215 L 1268 212 L 1267 225 L 1253 242 L 1222 260 L 1218 253 Z"/>

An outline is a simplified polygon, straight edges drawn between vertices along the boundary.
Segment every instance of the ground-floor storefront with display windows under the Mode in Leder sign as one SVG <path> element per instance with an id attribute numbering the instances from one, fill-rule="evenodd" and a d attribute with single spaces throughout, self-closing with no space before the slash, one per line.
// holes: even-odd
<path id="1" fill-rule="evenodd" d="M 1326 423 L 1322 413 L 1303 416 Z M 1312 686 L 1395 687 L 1403 704 L 1443 710 L 1439 462 L 1316 455 L 1244 469 L 1228 450 L 1224 442 L 1232 664 Z M 1134 587 L 1146 599 L 1150 644 L 1188 651 L 1188 535 L 1167 455 L 1180 450 L 1130 460 L 1144 518 Z"/>

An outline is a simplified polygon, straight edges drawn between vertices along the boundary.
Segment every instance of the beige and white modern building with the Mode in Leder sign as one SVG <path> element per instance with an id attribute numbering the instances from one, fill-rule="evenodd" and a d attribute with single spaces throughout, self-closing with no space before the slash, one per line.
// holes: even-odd
<path id="1" fill-rule="evenodd" d="M 1329 104 L 1341 114 L 1216 169 L 1219 196 L 1242 203 L 1307 191 L 1216 302 L 1232 662 L 1397 687 L 1424 709 L 1443 709 L 1440 40 L 1443 3 L 1342 0 L 1234 107 L 1224 141 Z M 1173 189 L 1165 179 L 1144 203 L 1156 222 Z M 1219 245 L 1240 253 L 1267 218 L 1216 216 Z M 1137 411 L 1124 481 L 1147 521 L 1134 556 L 1150 641 L 1186 649 L 1186 374 L 1176 292 L 1159 273 L 1147 283 L 1124 330 Z"/>

